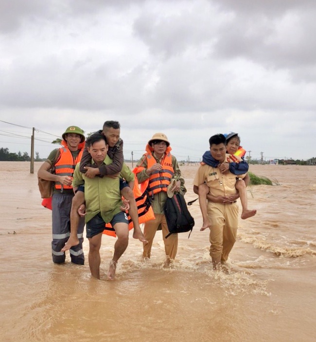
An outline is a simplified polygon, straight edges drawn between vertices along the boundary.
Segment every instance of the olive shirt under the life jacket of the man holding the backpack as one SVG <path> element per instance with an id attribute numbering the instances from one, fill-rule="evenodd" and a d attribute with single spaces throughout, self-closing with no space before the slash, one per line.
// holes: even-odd
<path id="1" fill-rule="evenodd" d="M 157 156 L 155 154 L 153 154 L 154 158 L 156 159 L 156 162 L 158 164 L 160 164 L 160 160 L 157 158 Z M 171 155 L 171 160 L 172 160 L 172 167 L 174 169 L 174 175 L 172 176 L 172 179 L 175 179 L 176 181 L 180 181 L 181 182 L 181 191 L 180 193 L 182 195 L 184 195 L 184 193 L 187 191 L 187 189 L 184 186 L 184 179 L 181 177 L 181 171 L 179 169 L 178 166 L 178 162 L 176 160 L 176 157 L 174 155 Z M 142 166 L 145 169 L 140 171 L 137 174 L 137 180 L 139 183 L 144 182 L 146 179 L 148 179 L 150 176 L 148 176 L 148 174 L 146 173 L 147 171 L 147 158 L 146 156 L 142 156 L 139 160 L 139 162 L 137 163 L 137 166 Z M 160 191 L 158 193 L 156 193 L 153 197 L 150 197 L 150 202 L 153 208 L 153 211 L 155 214 L 163 214 L 163 207 L 167 201 L 167 192 L 165 191 Z"/>

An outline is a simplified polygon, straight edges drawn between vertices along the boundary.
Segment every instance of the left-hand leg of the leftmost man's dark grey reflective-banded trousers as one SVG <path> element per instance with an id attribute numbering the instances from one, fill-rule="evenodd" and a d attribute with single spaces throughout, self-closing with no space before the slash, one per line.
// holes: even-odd
<path id="1" fill-rule="evenodd" d="M 70 208 L 72 202 L 71 194 L 53 194 L 52 199 L 52 256 L 56 264 L 65 262 L 65 252 L 60 250 L 70 237 Z"/>

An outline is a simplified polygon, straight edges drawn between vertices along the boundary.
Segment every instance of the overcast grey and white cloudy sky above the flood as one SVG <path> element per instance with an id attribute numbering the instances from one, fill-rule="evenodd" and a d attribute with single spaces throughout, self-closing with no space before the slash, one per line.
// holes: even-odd
<path id="1" fill-rule="evenodd" d="M 231 131 L 252 158 L 316 156 L 315 17 L 315 0 L 1 0 L 0 147 L 30 154 L 35 127 L 44 158 L 66 127 L 118 120 L 126 158 L 164 132 L 199 160 Z"/>

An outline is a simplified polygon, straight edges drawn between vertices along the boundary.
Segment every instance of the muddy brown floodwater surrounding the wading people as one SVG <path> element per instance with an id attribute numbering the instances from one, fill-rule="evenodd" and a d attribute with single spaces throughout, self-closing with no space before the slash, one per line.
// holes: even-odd
<path id="1" fill-rule="evenodd" d="M 0 341 L 315 341 L 316 167 L 251 165 L 274 180 L 248 188 L 228 271 L 214 272 L 198 201 L 195 226 L 179 234 L 176 262 L 163 268 L 158 231 L 150 261 L 130 235 L 115 281 L 105 274 L 115 239 L 103 236 L 101 280 L 84 266 L 51 260 L 51 211 L 40 205 L 25 162 L 0 162 Z M 198 166 L 181 166 L 186 200 Z M 88 241 L 84 241 L 88 260 Z"/>

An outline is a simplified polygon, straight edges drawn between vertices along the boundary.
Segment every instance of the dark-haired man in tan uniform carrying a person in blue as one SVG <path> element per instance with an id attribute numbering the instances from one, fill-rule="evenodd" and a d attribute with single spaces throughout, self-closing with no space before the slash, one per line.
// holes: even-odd
<path id="1" fill-rule="evenodd" d="M 226 138 L 223 134 L 217 134 L 210 138 L 211 156 L 220 163 L 229 162 L 229 154 L 226 154 Z M 247 181 L 247 173 L 238 175 Z M 207 212 L 210 217 L 210 256 L 213 268 L 220 268 L 225 263 L 236 241 L 238 227 L 239 197 L 235 188 L 236 175 L 230 171 L 222 172 L 220 168 L 209 165 L 201 165 L 193 181 L 193 191 L 198 194 L 198 187 L 206 183 L 210 191 L 207 195 Z"/>

